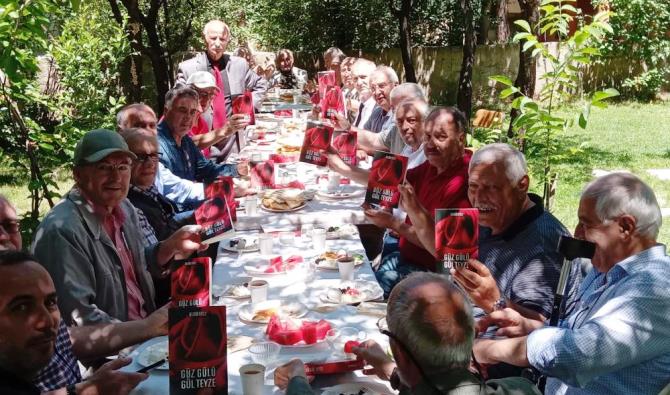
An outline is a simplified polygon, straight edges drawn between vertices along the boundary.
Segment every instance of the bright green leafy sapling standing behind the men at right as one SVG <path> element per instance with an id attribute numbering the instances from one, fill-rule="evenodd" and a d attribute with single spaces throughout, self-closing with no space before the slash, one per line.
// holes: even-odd
<path id="1" fill-rule="evenodd" d="M 572 15 L 576 13 L 571 3 L 571 0 L 543 0 L 540 5 L 541 17 L 535 29 L 540 34 L 559 38 L 557 53 L 540 42 L 528 22 L 515 22 L 520 31 L 514 36 L 514 41 L 520 43 L 524 51 L 532 51 L 534 57 L 543 59 L 549 65 L 548 71 L 540 77 L 542 89 L 539 99 L 522 94 L 506 76 L 490 77 L 506 86 L 500 93 L 501 98 L 514 97 L 512 107 L 518 109 L 520 115 L 514 120 L 513 126 L 522 133 L 519 137 L 523 141 L 526 156 L 540 158 L 537 166 L 531 166 L 531 171 L 540 175 L 547 208 L 551 205 L 552 183 L 557 176 L 552 168 L 582 153 L 578 142 L 565 139 L 566 128 L 574 122 L 582 129 L 585 128 L 591 107 L 603 108 L 606 99 L 619 94 L 615 89 L 606 89 L 580 96 L 582 71 L 600 56 L 597 44 L 612 32 L 612 28 L 607 23 L 607 13 L 599 13 L 589 24 L 568 37 L 568 26 L 573 19 Z M 576 113 L 556 111 L 577 99 L 581 105 Z M 530 162 L 531 165 L 537 163 L 533 160 Z"/>

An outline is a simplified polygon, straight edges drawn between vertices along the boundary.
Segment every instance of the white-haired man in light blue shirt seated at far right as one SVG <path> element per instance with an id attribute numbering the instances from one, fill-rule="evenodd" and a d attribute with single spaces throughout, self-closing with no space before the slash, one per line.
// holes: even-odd
<path id="1" fill-rule="evenodd" d="M 546 394 L 658 394 L 670 380 L 670 258 L 656 242 L 661 210 L 654 192 L 628 173 L 586 186 L 575 236 L 595 243 L 579 305 L 559 327 L 480 340 L 484 363 L 532 366 L 549 376 Z M 499 326 L 527 321 L 511 309 Z"/>

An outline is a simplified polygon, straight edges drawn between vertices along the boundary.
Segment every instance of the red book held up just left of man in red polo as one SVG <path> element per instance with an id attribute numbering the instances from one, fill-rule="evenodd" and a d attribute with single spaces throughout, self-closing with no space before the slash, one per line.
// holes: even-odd
<path id="1" fill-rule="evenodd" d="M 370 168 L 365 202 L 372 207 L 392 209 L 398 207 L 398 185 L 407 173 L 407 157 L 375 151 Z"/>

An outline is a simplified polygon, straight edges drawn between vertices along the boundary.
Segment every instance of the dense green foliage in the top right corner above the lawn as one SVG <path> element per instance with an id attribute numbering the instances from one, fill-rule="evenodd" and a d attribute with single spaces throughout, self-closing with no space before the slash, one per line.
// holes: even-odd
<path id="1" fill-rule="evenodd" d="M 594 0 L 594 4 L 602 0 Z M 653 100 L 670 73 L 670 0 L 608 0 L 612 8 L 612 34 L 598 48 L 604 59 L 628 59 L 640 64 L 635 75 L 624 80 L 622 95 Z"/>

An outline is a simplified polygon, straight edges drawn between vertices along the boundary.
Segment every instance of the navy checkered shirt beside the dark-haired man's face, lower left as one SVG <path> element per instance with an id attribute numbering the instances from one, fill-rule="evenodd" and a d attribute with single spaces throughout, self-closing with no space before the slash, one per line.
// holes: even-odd
<path id="1" fill-rule="evenodd" d="M 81 381 L 81 373 L 77 364 L 77 357 L 72 352 L 72 343 L 70 342 L 70 333 L 67 330 L 65 321 L 60 321 L 58 335 L 56 336 L 56 346 L 51 360 L 37 374 L 33 384 L 40 391 L 53 391 L 68 385 L 77 384 Z"/>

